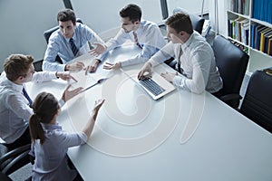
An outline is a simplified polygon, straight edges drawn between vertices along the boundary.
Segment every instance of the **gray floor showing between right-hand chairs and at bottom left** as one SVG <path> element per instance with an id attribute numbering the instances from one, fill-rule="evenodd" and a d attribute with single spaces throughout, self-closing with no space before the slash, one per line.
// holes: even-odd
<path id="1" fill-rule="evenodd" d="M 250 76 L 248 74 L 246 74 L 244 81 L 242 83 L 241 91 L 240 91 L 242 97 L 244 97 L 244 95 L 246 93 L 249 78 L 250 78 Z M 240 102 L 242 102 L 242 100 Z M 31 169 L 32 169 L 32 165 L 28 164 L 25 167 L 22 167 L 17 172 L 10 175 L 10 177 L 15 181 L 23 181 L 26 178 L 28 178 L 29 176 L 31 176 Z"/>

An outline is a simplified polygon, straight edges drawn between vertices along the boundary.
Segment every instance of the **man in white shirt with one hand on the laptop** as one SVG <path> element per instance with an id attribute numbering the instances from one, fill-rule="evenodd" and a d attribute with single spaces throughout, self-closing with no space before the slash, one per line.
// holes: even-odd
<path id="1" fill-rule="evenodd" d="M 178 60 L 177 70 L 183 75 L 161 73 L 167 81 L 194 93 L 202 93 L 204 90 L 210 93 L 218 92 L 223 87 L 223 82 L 212 48 L 199 33 L 193 30 L 189 14 L 173 14 L 166 21 L 166 25 L 170 43 L 143 65 L 138 79 L 146 75 L 150 76 L 152 67 L 174 57 Z"/>

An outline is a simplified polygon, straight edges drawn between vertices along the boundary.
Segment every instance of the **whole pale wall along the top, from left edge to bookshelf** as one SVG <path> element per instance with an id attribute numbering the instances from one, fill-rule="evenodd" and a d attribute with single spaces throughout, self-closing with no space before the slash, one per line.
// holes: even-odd
<path id="1" fill-rule="evenodd" d="M 109 29 L 117 29 L 120 26 L 119 11 L 121 7 L 131 2 L 141 6 L 143 18 L 155 23 L 162 21 L 160 0 L 71 0 L 71 2 L 84 24 L 90 25 L 95 32 L 103 36 Z M 200 14 L 202 0 L 167 2 L 169 14 L 172 14 L 176 6 Z M 205 4 L 208 4 L 208 1 Z M 42 60 L 46 49 L 44 31 L 57 25 L 56 14 L 63 8 L 63 0 L 1 0 L 0 71 L 3 71 L 3 62 L 11 53 L 32 54 L 35 60 Z M 207 5 L 205 9 L 207 12 Z"/>

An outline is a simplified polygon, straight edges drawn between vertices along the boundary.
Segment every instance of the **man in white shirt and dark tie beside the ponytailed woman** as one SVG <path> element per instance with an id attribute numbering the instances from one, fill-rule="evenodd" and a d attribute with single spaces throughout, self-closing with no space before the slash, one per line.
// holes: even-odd
<path id="1" fill-rule="evenodd" d="M 65 71 L 34 71 L 34 58 L 31 55 L 12 54 L 6 58 L 4 70 L 0 76 L 0 138 L 7 148 L 14 149 L 31 143 L 28 120 L 33 114 L 32 100 L 25 90 L 28 81 L 52 81 L 61 78 L 64 81 L 74 79 Z M 63 105 L 83 88 L 63 92 L 59 103 Z"/>

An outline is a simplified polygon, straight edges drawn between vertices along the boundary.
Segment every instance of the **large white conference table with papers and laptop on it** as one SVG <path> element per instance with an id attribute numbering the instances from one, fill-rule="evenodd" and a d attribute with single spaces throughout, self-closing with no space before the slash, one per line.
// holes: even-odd
<path id="1" fill-rule="evenodd" d="M 138 50 L 123 46 L 107 61 L 125 59 Z M 89 58 L 88 58 L 89 57 Z M 85 55 L 79 59 L 90 60 Z M 151 100 L 127 73 L 138 73 L 141 65 L 123 71 L 105 71 L 84 76 L 91 85 L 110 77 L 69 100 L 58 121 L 67 131 L 77 131 L 89 119 L 93 102 L 105 98 L 92 136 L 86 145 L 70 148 L 69 157 L 84 180 L 272 180 L 272 137 L 238 111 L 213 97 L 187 90 L 174 90 L 160 100 Z M 154 71 L 173 71 L 160 64 Z M 43 90 L 57 98 L 65 81 L 28 83 L 32 98 Z"/>

